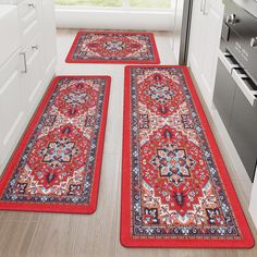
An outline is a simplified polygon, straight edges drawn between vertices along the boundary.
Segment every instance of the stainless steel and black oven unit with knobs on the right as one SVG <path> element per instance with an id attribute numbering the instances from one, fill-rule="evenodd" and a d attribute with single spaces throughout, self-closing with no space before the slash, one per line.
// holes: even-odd
<path id="1" fill-rule="evenodd" d="M 257 1 L 223 2 L 213 102 L 253 182 L 257 163 Z"/>

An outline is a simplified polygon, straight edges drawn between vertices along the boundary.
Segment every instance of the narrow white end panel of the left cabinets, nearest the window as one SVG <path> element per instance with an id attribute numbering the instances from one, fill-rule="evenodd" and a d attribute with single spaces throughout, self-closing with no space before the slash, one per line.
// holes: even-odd
<path id="1" fill-rule="evenodd" d="M 42 44 L 45 74 L 49 75 L 54 70 L 57 61 L 56 45 L 56 16 L 54 3 L 52 0 L 42 1 Z"/>

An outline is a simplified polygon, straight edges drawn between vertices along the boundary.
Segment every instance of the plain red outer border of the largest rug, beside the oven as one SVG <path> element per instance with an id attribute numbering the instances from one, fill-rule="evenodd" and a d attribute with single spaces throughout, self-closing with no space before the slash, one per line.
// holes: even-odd
<path id="1" fill-rule="evenodd" d="M 231 192 L 232 196 L 229 197 L 231 207 L 233 208 L 234 216 L 240 224 L 240 229 L 243 234 L 243 240 L 150 240 L 150 238 L 133 238 L 131 236 L 131 81 L 130 74 L 133 68 L 180 68 L 185 76 L 185 81 L 188 85 L 189 91 L 193 97 L 196 110 L 198 112 L 201 125 L 205 130 L 207 140 L 212 152 L 216 152 L 218 157 L 215 158 L 216 164 L 219 168 L 220 176 L 228 192 Z M 125 247 L 173 247 L 173 248 L 252 248 L 255 245 L 254 237 L 245 218 L 244 211 L 241 207 L 235 189 L 229 178 L 228 170 L 224 161 L 219 151 L 218 145 L 207 121 L 206 114 L 201 107 L 200 100 L 197 96 L 193 81 L 186 66 L 182 65 L 131 65 L 125 66 L 125 90 L 124 90 L 124 117 L 123 117 L 123 152 L 122 152 L 122 199 L 121 199 L 121 230 L 120 241 Z"/>

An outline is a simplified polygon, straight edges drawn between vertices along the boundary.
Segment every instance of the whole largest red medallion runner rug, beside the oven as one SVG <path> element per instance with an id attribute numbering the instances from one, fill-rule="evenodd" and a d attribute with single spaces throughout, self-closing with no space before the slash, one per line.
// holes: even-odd
<path id="1" fill-rule="evenodd" d="M 252 247 L 186 68 L 126 68 L 124 108 L 121 243 Z"/>

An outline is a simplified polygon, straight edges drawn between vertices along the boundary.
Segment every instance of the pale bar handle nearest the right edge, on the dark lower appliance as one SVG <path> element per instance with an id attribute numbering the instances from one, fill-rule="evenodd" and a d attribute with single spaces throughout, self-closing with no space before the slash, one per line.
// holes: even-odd
<path id="1" fill-rule="evenodd" d="M 232 71 L 232 77 L 235 81 L 236 85 L 240 87 L 241 91 L 245 95 L 250 106 L 255 106 L 257 98 L 257 90 L 250 90 L 249 87 L 245 84 L 244 78 L 247 78 L 245 74 L 238 74 L 236 70 Z"/>

